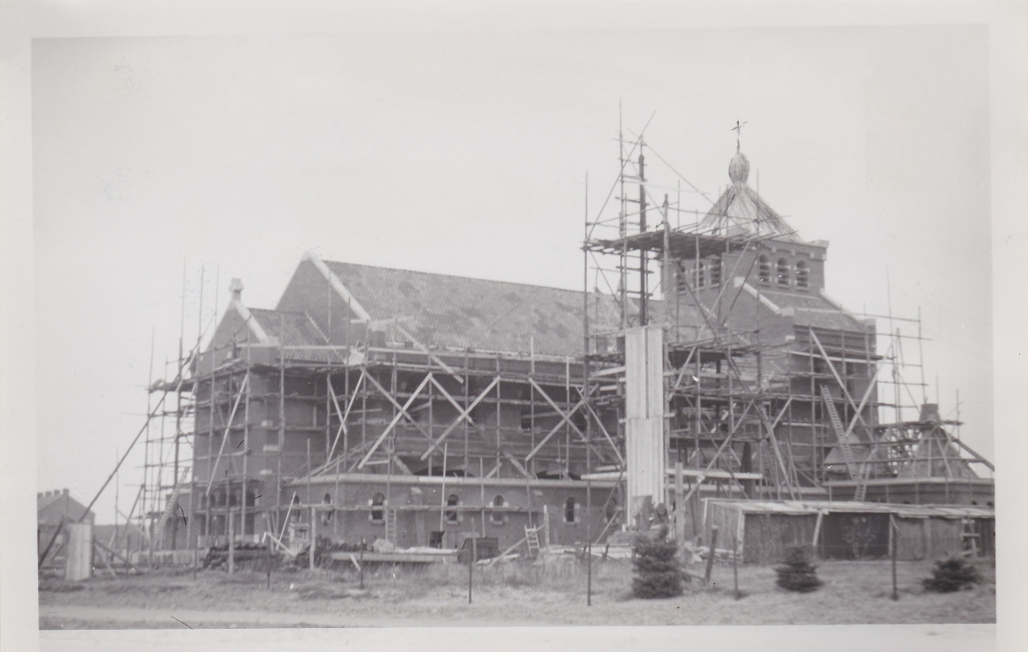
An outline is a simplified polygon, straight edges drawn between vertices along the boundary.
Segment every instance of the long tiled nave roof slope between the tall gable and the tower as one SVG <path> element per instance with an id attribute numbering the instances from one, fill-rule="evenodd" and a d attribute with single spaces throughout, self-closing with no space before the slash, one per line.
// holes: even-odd
<path id="1" fill-rule="evenodd" d="M 407 318 L 423 343 L 543 355 L 582 352 L 581 291 L 326 261 L 372 319 Z M 615 330 L 613 297 L 591 295 L 590 327 Z"/>

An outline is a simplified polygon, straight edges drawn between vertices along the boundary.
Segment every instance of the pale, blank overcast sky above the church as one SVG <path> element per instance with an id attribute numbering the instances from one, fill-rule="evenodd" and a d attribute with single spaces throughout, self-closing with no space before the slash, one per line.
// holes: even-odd
<path id="1" fill-rule="evenodd" d="M 151 334 L 159 375 L 232 278 L 272 307 L 307 249 L 581 289 L 619 115 L 711 197 L 745 122 L 750 184 L 831 242 L 828 292 L 920 310 L 927 398 L 953 416 L 959 390 L 991 458 L 988 47 L 981 26 L 38 39 L 38 490 L 88 501 L 143 425 Z"/>

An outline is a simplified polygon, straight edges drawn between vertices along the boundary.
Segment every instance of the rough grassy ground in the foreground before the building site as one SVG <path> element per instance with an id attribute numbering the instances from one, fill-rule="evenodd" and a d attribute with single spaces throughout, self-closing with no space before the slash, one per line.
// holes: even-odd
<path id="1" fill-rule="evenodd" d="M 477 567 L 468 604 L 466 566 L 379 567 L 359 588 L 356 570 L 263 573 L 152 571 L 117 580 L 41 580 L 41 629 L 142 627 L 377 627 L 434 625 L 657 625 L 994 623 L 995 569 L 969 590 L 929 593 L 921 579 L 930 562 L 900 563 L 900 600 L 891 596 L 887 560 L 825 562 L 824 585 L 812 593 L 775 586 L 770 567 L 739 567 L 735 599 L 730 565 L 715 565 L 712 585 L 694 581 L 681 597 L 631 597 L 631 565 L 593 564 L 592 606 L 585 565 L 547 563 Z M 699 569 L 694 569 L 694 572 Z"/>

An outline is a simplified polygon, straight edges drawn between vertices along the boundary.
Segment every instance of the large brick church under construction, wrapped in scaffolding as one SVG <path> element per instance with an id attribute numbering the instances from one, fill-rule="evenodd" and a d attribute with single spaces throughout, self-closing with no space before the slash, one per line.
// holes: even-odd
<path id="1" fill-rule="evenodd" d="M 310 253 L 273 309 L 233 280 L 214 335 L 151 388 L 175 422 L 147 439 L 154 547 L 573 546 L 661 504 L 695 539 L 737 499 L 991 507 L 991 463 L 912 398 L 908 335 L 830 297 L 828 243 L 746 157 L 684 220 L 645 147 L 622 141 L 616 215 L 586 221 L 581 291 Z"/>

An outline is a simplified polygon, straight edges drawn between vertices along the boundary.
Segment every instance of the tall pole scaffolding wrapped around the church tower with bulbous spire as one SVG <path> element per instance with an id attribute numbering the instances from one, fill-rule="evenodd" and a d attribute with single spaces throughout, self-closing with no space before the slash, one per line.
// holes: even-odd
<path id="1" fill-rule="evenodd" d="M 647 158 L 666 161 L 641 135 L 618 140 L 620 170 L 609 194 L 620 203 L 617 215 L 604 214 L 608 201 L 595 217 L 587 216 L 583 249 L 584 291 L 591 289 L 595 301 L 609 293 L 622 329 L 602 332 L 587 324 L 587 359 L 623 365 L 626 328 L 663 327 L 668 459 L 693 478 L 685 497 L 687 521 L 696 520 L 698 504 L 690 499 L 700 491 L 750 499 L 834 494 L 866 500 L 869 486 L 888 485 L 925 456 L 933 473 L 951 478 L 951 467 L 959 465 L 992 469 L 951 434 L 959 421 L 922 413 L 928 402 L 920 315 L 894 317 L 890 302 L 887 316 L 858 317 L 823 290 L 815 294 L 806 263 L 783 269 L 779 260 L 776 268 L 761 255 L 775 248 L 795 254 L 806 244 L 760 197 L 759 187 L 745 187 L 748 161 L 741 154 L 730 168 L 733 186 L 713 202 L 670 165 L 666 170 L 677 178 L 654 183 Z M 686 207 L 683 183 L 709 207 Z M 631 185 L 638 187 L 637 198 Z M 676 190 L 675 201 L 668 193 L 658 201 L 654 186 Z M 740 194 L 748 203 L 729 212 Z M 655 227 L 647 223 L 648 207 L 659 207 Z M 776 305 L 769 296 L 783 283 L 819 295 L 828 306 L 800 300 L 787 309 Z M 744 305 L 754 302 L 756 315 Z M 782 318 L 778 322 L 791 318 L 787 333 L 774 319 L 762 323 L 761 309 Z M 886 333 L 878 332 L 878 320 L 887 320 Z M 901 324 L 916 334 L 905 334 Z M 916 351 L 905 351 L 905 343 Z M 931 437 L 942 445 L 925 445 Z M 931 465 L 935 458 L 941 467 Z M 948 484 L 946 494 L 948 501 Z M 662 498 L 673 504 L 681 490 L 675 496 L 668 482 Z"/>

